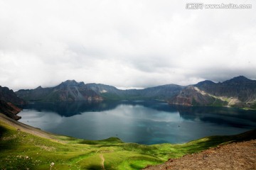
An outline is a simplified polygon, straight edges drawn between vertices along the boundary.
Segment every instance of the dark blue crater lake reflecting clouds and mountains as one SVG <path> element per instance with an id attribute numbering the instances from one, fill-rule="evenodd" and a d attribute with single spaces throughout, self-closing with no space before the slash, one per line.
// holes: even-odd
<path id="1" fill-rule="evenodd" d="M 160 101 L 29 103 L 21 123 L 86 140 L 119 137 L 152 145 L 183 143 L 210 135 L 235 135 L 256 128 L 256 111 L 170 106 Z"/>

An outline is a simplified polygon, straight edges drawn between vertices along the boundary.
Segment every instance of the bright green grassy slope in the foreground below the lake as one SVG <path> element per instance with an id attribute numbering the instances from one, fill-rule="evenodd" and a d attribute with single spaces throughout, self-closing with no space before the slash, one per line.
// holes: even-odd
<path id="1" fill-rule="evenodd" d="M 91 141 L 53 135 L 0 113 L 0 169 L 103 169 L 102 164 L 105 169 L 142 169 L 220 144 L 255 139 L 255 134 L 254 130 L 181 145 L 138 145 L 116 137 Z"/>

